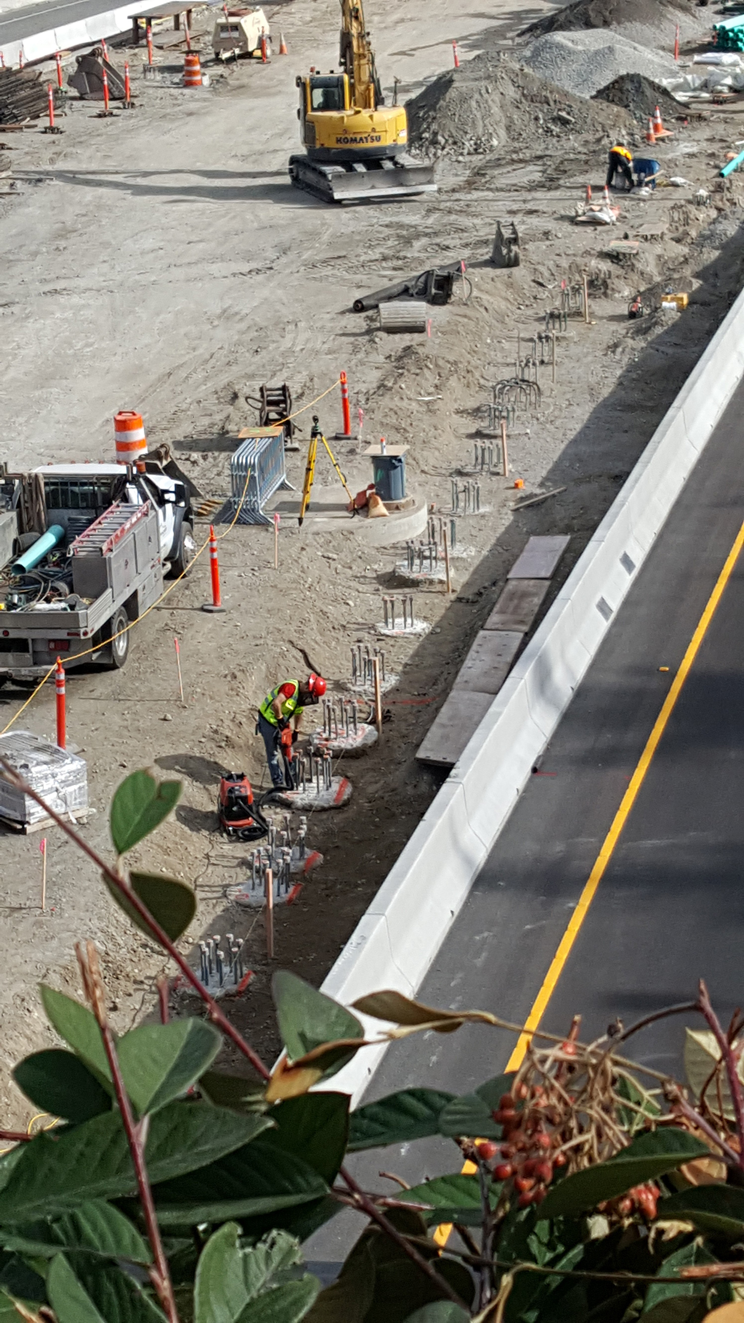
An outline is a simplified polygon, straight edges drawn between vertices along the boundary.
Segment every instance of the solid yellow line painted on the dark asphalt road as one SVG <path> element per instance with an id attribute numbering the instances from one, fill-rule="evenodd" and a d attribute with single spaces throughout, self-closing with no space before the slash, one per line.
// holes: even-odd
<path id="1" fill-rule="evenodd" d="M 597 888 L 598 888 L 598 885 L 600 885 L 600 882 L 601 882 L 601 880 L 602 880 L 602 877 L 605 875 L 605 869 L 606 869 L 606 867 L 608 867 L 608 864 L 609 864 L 609 861 L 610 861 L 610 859 L 613 856 L 614 847 L 617 845 L 617 841 L 620 839 L 620 833 L 622 832 L 622 828 L 625 827 L 625 823 L 628 822 L 628 818 L 630 815 L 630 810 L 633 808 L 633 804 L 635 803 L 635 799 L 638 798 L 638 791 L 641 790 L 641 786 L 643 785 L 643 779 L 646 777 L 646 773 L 647 773 L 649 767 L 651 766 L 651 759 L 653 759 L 653 757 L 654 757 L 654 754 L 655 754 L 655 751 L 657 751 L 657 749 L 659 746 L 659 741 L 661 741 L 661 738 L 662 738 L 662 736 L 663 736 L 663 733 L 666 730 L 666 726 L 669 724 L 669 718 L 671 717 L 671 713 L 674 712 L 674 706 L 676 704 L 676 700 L 678 700 L 679 695 L 682 693 L 682 685 L 684 684 L 687 676 L 690 675 L 690 671 L 691 671 L 692 663 L 694 663 L 694 660 L 695 660 L 695 658 L 698 655 L 700 643 L 703 642 L 703 639 L 704 639 L 704 636 L 707 634 L 707 630 L 708 630 L 708 626 L 710 626 L 710 623 L 711 623 L 711 620 L 714 618 L 716 606 L 719 605 L 719 602 L 720 602 L 720 599 L 723 597 L 723 590 L 724 590 L 725 585 L 728 583 L 728 581 L 729 581 L 729 578 L 731 578 L 731 576 L 733 573 L 733 568 L 736 565 L 736 561 L 739 560 L 739 553 L 741 552 L 743 546 L 744 546 L 744 523 L 741 524 L 741 528 L 739 529 L 739 533 L 736 534 L 736 540 L 735 540 L 733 546 L 731 548 L 731 550 L 729 550 L 729 553 L 728 553 L 728 556 L 725 558 L 724 566 L 723 566 L 723 569 L 721 569 L 721 572 L 720 572 L 720 574 L 719 574 L 719 577 L 716 579 L 716 585 L 715 585 L 715 587 L 714 587 L 714 590 L 712 590 L 708 601 L 706 602 L 706 609 L 704 609 L 700 619 L 698 620 L 698 626 L 695 628 L 695 632 L 694 632 L 692 638 L 690 639 L 690 644 L 687 647 L 687 651 L 686 651 L 684 656 L 682 658 L 682 663 L 680 663 L 679 671 L 676 672 L 676 675 L 675 675 L 675 677 L 674 677 L 674 680 L 671 683 L 670 691 L 669 691 L 669 693 L 667 693 L 667 696 L 666 696 L 666 699 L 663 701 L 662 709 L 661 709 L 661 712 L 659 712 L 659 714 L 658 714 L 658 717 L 657 717 L 657 720 L 654 722 L 654 728 L 651 730 L 651 734 L 649 736 L 649 738 L 646 741 L 646 746 L 643 749 L 643 753 L 641 754 L 641 757 L 639 757 L 639 759 L 638 759 L 638 762 L 635 765 L 635 771 L 633 773 L 633 775 L 630 778 L 628 790 L 625 791 L 625 794 L 622 796 L 620 808 L 617 810 L 617 814 L 614 815 L 612 827 L 610 827 L 609 832 L 606 833 L 606 836 L 604 839 L 602 848 L 601 848 L 600 853 L 597 855 L 597 859 L 594 861 L 594 867 L 593 867 L 592 872 L 589 873 L 589 878 L 588 878 L 588 881 L 586 881 L 586 884 L 584 886 L 584 890 L 581 892 L 581 896 L 579 898 L 579 904 L 577 904 L 577 906 L 573 910 L 573 914 L 571 917 L 571 922 L 569 922 L 565 933 L 563 934 L 563 938 L 560 941 L 560 946 L 559 946 L 559 949 L 557 949 L 557 951 L 553 955 L 553 959 L 551 962 L 551 967 L 549 967 L 548 972 L 545 974 L 545 978 L 543 979 L 543 986 L 541 986 L 540 991 L 537 992 L 537 996 L 535 998 L 535 1002 L 532 1003 L 532 1009 L 530 1011 L 530 1015 L 527 1017 L 527 1024 L 526 1024 L 524 1032 L 519 1035 L 519 1039 L 516 1041 L 516 1046 L 514 1048 L 514 1052 L 511 1053 L 511 1056 L 510 1056 L 510 1058 L 507 1061 L 507 1065 L 506 1065 L 507 1072 L 510 1072 L 510 1070 L 519 1070 L 519 1066 L 522 1065 L 522 1062 L 524 1060 L 524 1053 L 527 1052 L 527 1044 L 530 1043 L 530 1040 L 532 1037 L 532 1033 L 535 1032 L 535 1029 L 540 1024 L 540 1020 L 543 1019 L 543 1015 L 545 1013 L 545 1009 L 548 1007 L 548 1002 L 551 1000 L 551 996 L 555 992 L 557 980 L 560 979 L 560 976 L 563 974 L 563 970 L 565 967 L 565 962 L 568 960 L 568 957 L 571 955 L 571 949 L 572 949 L 576 938 L 579 937 L 581 925 L 582 925 L 584 919 L 586 918 L 586 914 L 589 913 L 589 906 L 590 906 L 592 901 L 594 900 L 594 894 L 597 892 Z M 462 1172 L 466 1174 L 466 1175 L 470 1175 L 470 1174 L 473 1174 L 477 1170 L 478 1168 L 471 1162 L 466 1162 L 463 1164 L 463 1167 L 462 1167 Z M 450 1236 L 450 1232 L 451 1232 L 451 1224 L 443 1224 L 441 1226 L 437 1226 L 437 1230 L 434 1232 L 434 1241 L 437 1242 L 437 1245 L 441 1245 L 441 1246 L 446 1245 L 446 1242 L 449 1240 L 449 1236 Z"/>

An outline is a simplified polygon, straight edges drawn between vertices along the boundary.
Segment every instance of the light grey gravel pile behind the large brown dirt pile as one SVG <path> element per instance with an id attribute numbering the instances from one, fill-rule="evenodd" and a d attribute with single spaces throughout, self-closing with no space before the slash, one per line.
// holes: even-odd
<path id="1" fill-rule="evenodd" d="M 643 74 L 662 82 L 678 73 L 671 56 L 639 46 L 606 28 L 547 33 L 532 42 L 524 60 L 541 78 L 575 97 L 593 97 L 622 74 Z"/>

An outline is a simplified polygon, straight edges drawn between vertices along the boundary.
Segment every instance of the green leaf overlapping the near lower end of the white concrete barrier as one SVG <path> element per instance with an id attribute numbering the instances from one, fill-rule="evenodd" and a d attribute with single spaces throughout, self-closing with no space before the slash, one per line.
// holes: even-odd
<path id="1" fill-rule="evenodd" d="M 323 992 L 318 992 L 297 974 L 279 970 L 271 979 L 271 992 L 279 1033 L 290 1061 L 298 1061 L 306 1052 L 312 1052 L 323 1043 L 364 1037 L 364 1029 L 351 1011 Z M 352 1056 L 353 1052 L 343 1053 L 324 1074 L 335 1074 Z"/>

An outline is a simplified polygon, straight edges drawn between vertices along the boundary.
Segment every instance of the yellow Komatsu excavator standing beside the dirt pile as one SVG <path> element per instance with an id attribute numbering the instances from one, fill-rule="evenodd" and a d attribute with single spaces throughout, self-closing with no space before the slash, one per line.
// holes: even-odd
<path id="1" fill-rule="evenodd" d="M 299 136 L 290 179 L 328 202 L 434 193 L 433 165 L 406 157 L 402 106 L 385 106 L 360 0 L 342 0 L 340 70 L 299 77 Z"/>

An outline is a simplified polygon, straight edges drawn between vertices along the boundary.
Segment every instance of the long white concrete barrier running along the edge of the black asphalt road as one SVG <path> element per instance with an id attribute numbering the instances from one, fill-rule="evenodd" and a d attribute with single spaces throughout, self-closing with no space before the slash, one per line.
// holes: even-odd
<path id="1" fill-rule="evenodd" d="M 416 994 L 743 372 L 744 291 L 357 923 L 328 996 Z M 328 1088 L 356 1102 L 383 1052 L 357 1053 Z"/>

